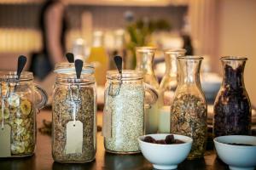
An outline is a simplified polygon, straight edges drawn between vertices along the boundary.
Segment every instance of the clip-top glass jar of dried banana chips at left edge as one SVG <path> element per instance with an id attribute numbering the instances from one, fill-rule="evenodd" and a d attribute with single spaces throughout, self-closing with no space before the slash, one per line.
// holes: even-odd
<path id="1" fill-rule="evenodd" d="M 36 113 L 47 102 L 47 94 L 33 83 L 32 72 L 0 72 L 0 157 L 34 154 Z"/>

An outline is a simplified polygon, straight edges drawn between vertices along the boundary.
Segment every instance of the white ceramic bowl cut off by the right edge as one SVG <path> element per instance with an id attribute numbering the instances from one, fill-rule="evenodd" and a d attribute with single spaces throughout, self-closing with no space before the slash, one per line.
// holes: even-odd
<path id="1" fill-rule="evenodd" d="M 253 170 L 256 167 L 256 137 L 230 135 L 217 137 L 213 141 L 219 158 L 228 164 L 231 170 Z"/>

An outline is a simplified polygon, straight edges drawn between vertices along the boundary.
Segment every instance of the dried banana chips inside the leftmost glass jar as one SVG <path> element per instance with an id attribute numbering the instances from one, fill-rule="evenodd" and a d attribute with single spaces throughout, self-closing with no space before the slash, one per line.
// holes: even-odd
<path id="1" fill-rule="evenodd" d="M 25 96 L 25 94 L 23 94 Z M 35 148 L 35 109 L 29 99 L 11 93 L 9 98 L 0 102 L 0 120 L 11 126 L 12 156 L 32 155 Z"/>

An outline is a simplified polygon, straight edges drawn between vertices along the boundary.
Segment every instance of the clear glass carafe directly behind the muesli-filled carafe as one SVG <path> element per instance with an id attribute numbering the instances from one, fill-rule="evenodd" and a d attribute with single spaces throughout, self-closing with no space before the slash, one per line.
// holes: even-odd
<path id="1" fill-rule="evenodd" d="M 160 82 L 159 133 L 170 133 L 170 108 L 177 88 L 177 57 L 184 56 L 185 49 L 165 50 L 166 72 Z"/>

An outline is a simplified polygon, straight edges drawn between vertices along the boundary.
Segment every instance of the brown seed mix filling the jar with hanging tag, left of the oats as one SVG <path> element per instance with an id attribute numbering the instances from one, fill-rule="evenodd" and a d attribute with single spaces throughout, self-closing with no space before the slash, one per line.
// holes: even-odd
<path id="1" fill-rule="evenodd" d="M 71 88 L 76 94 L 77 88 Z M 96 155 L 96 115 L 94 89 L 81 87 L 79 89 L 81 103 L 76 113 L 76 120 L 83 123 L 82 153 L 66 154 L 67 141 L 66 125 L 73 121 L 73 104 L 70 102 L 69 90 L 64 86 L 57 86 L 53 97 L 53 145 L 52 152 L 55 161 L 85 162 L 92 161 Z"/>

